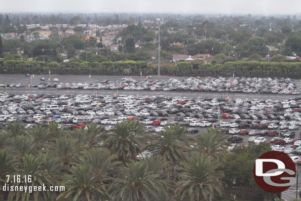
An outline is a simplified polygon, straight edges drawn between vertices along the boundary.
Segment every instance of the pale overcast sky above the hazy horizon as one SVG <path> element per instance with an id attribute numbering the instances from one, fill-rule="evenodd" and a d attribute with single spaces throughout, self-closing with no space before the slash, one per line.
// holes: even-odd
<path id="1" fill-rule="evenodd" d="M 301 0 L 0 0 L 0 12 L 298 14 Z"/>

